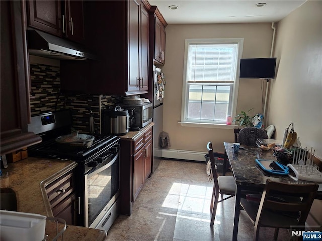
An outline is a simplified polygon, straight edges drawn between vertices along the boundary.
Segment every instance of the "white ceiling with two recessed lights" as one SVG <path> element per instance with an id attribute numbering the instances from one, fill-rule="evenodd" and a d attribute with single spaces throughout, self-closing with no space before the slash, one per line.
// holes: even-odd
<path id="1" fill-rule="evenodd" d="M 168 24 L 278 22 L 307 0 L 149 0 Z M 257 3 L 266 3 L 256 7 Z M 171 10 L 170 5 L 179 8 Z"/>

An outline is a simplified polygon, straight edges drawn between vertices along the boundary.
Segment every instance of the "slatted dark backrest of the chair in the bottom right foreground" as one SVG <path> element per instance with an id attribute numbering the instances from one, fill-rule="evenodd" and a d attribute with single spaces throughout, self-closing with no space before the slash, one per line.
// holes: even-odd
<path id="1" fill-rule="evenodd" d="M 311 209 L 314 197 L 317 193 L 318 184 L 289 184 L 266 180 L 266 185 L 259 209 L 256 216 L 255 225 L 261 222 L 261 217 L 265 209 L 277 211 L 283 214 L 297 213 L 299 216 L 297 225 L 305 225 L 306 218 Z M 285 201 L 279 201 L 273 197 L 291 197 Z"/>

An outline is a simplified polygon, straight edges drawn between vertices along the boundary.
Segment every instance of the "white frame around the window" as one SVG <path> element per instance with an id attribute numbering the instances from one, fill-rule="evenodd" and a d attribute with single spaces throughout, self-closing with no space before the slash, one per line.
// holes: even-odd
<path id="1" fill-rule="evenodd" d="M 185 40 L 185 53 L 184 53 L 184 68 L 183 68 L 183 85 L 182 85 L 182 104 L 181 104 L 181 121 L 179 122 L 182 126 L 189 127 L 210 127 L 210 128 L 234 128 L 234 125 L 226 125 L 225 123 L 207 122 L 207 121 L 191 121 L 187 120 L 188 110 L 188 84 L 187 84 L 187 62 L 188 62 L 188 51 L 190 44 L 237 44 L 238 45 L 238 57 L 237 57 L 237 69 L 236 76 L 233 83 L 233 90 L 231 96 L 231 116 L 236 115 L 238 89 L 239 89 L 239 67 L 240 59 L 243 53 L 243 42 L 244 38 L 227 38 L 227 39 L 186 39 Z M 198 83 L 196 83 L 198 84 Z M 230 102 L 230 100 L 229 100 Z"/>

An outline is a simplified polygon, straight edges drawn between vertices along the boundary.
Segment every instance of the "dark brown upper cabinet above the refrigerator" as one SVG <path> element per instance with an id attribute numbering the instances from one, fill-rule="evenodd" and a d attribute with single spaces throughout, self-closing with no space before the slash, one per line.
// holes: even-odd
<path id="1" fill-rule="evenodd" d="M 154 27 L 151 31 L 154 34 L 154 63 L 163 65 L 165 64 L 167 22 L 156 6 L 151 6 L 151 11 L 154 13 L 154 18 L 151 18 L 151 25 Z"/>

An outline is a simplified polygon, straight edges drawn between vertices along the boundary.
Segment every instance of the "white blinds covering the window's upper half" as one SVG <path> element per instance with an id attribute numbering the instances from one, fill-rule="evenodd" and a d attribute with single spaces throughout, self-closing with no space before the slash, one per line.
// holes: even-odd
<path id="1" fill-rule="evenodd" d="M 238 44 L 189 44 L 187 82 L 234 81 Z"/>

